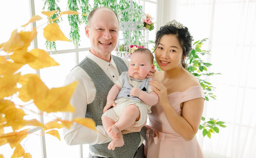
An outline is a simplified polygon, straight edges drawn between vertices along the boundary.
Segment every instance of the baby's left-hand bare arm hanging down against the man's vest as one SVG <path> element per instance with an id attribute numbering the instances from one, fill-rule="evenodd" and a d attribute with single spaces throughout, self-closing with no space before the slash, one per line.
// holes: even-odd
<path id="1" fill-rule="evenodd" d="M 113 107 L 116 106 L 114 100 L 120 90 L 121 90 L 121 88 L 119 86 L 117 86 L 117 84 L 114 84 L 114 86 L 112 86 L 112 88 L 109 90 L 108 96 L 107 96 L 107 103 L 103 109 L 103 113 L 106 112 L 111 106 L 113 106 Z"/>

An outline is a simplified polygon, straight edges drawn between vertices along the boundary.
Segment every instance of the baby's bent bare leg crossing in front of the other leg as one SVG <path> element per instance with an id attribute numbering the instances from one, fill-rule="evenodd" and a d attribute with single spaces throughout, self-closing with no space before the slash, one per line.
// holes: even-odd
<path id="1" fill-rule="evenodd" d="M 121 130 L 131 127 L 134 124 L 134 122 L 138 121 L 139 119 L 139 108 L 134 104 L 128 105 L 124 108 L 124 112 L 122 113 L 119 120 L 114 125 L 108 128 L 108 132 L 110 133 L 112 138 L 115 138 Z"/>

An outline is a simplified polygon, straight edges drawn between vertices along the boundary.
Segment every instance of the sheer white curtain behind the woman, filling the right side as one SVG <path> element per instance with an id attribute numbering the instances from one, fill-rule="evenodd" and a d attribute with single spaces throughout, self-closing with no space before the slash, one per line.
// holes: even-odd
<path id="1" fill-rule="evenodd" d="M 256 1 L 180 0 L 159 2 L 159 26 L 177 20 L 188 27 L 195 41 L 209 37 L 210 72 L 217 100 L 205 102 L 203 116 L 226 122 L 219 134 L 197 134 L 206 158 L 256 157 Z M 160 12 L 159 12 L 160 15 Z"/>

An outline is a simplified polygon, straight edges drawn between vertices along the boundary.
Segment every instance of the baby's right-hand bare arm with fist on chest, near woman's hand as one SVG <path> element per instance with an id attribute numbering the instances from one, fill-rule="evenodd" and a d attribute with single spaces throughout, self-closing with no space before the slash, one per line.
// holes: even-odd
<path id="1" fill-rule="evenodd" d="M 158 95 L 154 91 L 147 93 L 137 87 L 133 87 L 130 95 L 138 97 L 149 106 L 153 106 L 158 102 Z"/>

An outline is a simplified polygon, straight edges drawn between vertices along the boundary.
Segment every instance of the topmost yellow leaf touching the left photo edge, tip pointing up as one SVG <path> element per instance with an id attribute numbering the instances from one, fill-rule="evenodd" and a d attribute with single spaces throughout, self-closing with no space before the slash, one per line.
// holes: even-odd
<path id="1" fill-rule="evenodd" d="M 20 49 L 23 46 L 24 42 L 21 40 L 20 34 L 17 32 L 17 29 L 11 33 L 11 37 L 7 42 L 1 44 L 3 50 L 7 53 Z"/>

